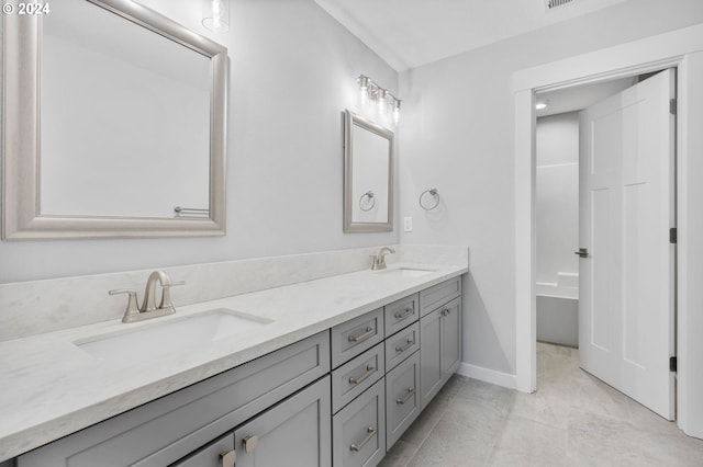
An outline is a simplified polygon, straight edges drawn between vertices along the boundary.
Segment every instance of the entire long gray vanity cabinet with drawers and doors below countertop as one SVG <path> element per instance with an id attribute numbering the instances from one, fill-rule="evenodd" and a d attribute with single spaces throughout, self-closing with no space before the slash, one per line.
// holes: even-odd
<path id="1" fill-rule="evenodd" d="M 461 277 L 454 277 L 25 453 L 15 465 L 373 467 L 460 358 Z"/>

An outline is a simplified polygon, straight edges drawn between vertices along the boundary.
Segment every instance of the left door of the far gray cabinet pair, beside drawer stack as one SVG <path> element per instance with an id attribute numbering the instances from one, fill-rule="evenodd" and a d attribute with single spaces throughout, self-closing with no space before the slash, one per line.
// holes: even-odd
<path id="1" fill-rule="evenodd" d="M 442 389 L 442 308 L 420 319 L 420 395 L 422 408 Z"/>

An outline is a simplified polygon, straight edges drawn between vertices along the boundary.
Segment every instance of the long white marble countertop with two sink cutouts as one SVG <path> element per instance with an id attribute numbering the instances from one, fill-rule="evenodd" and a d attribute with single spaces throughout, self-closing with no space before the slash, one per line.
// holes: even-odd
<path id="1" fill-rule="evenodd" d="M 432 271 L 413 277 L 389 270 Z M 466 266 L 393 264 L 269 288 L 187 307 L 124 324 L 100 322 L 0 343 L 0 462 L 468 271 Z M 236 340 L 144 358 L 102 360 L 74 342 L 158 326 L 215 308 L 272 320 Z M 129 327 L 129 328 L 127 328 Z M 155 350 L 155 353 L 156 350 Z"/>

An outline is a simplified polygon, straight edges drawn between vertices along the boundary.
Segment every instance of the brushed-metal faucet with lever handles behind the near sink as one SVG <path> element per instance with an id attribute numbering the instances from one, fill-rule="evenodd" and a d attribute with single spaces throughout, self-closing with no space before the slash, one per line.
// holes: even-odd
<path id="1" fill-rule="evenodd" d="M 156 305 L 156 282 L 161 286 L 161 301 Z M 183 285 L 185 281 L 174 282 L 164 271 L 154 271 L 146 280 L 146 288 L 144 289 L 144 301 L 137 308 L 136 292 L 131 288 L 120 288 L 110 291 L 110 295 L 127 294 L 127 308 L 122 317 L 122 322 L 142 321 L 145 319 L 157 318 L 159 316 L 172 315 L 176 312 L 174 301 L 171 300 L 171 287 L 175 285 Z"/>

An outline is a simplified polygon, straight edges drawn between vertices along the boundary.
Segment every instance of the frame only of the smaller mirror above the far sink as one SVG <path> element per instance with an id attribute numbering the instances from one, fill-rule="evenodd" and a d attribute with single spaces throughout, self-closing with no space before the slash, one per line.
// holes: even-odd
<path id="1" fill-rule="evenodd" d="M 364 128 L 381 138 L 388 139 L 388 221 L 354 221 L 353 213 L 357 197 L 352 193 L 354 176 L 354 130 Z M 350 111 L 344 119 L 344 232 L 388 232 L 393 230 L 393 152 L 394 134 L 388 128 L 375 124 Z"/>

